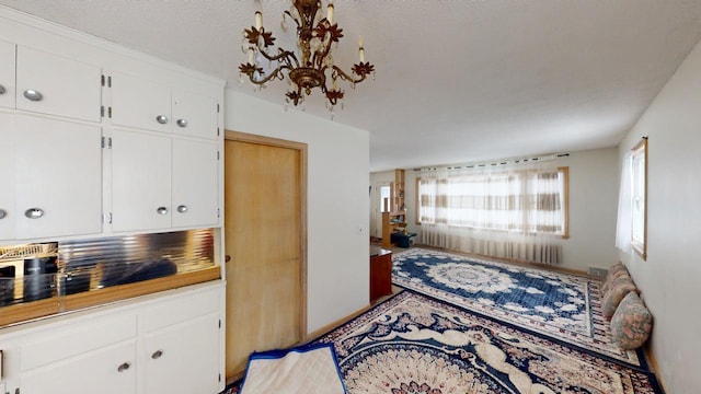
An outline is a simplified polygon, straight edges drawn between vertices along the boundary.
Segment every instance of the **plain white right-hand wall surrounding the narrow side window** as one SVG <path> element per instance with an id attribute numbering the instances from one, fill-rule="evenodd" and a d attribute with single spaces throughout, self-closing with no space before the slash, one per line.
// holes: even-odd
<path id="1" fill-rule="evenodd" d="M 701 47 L 675 76 L 620 144 L 619 162 L 648 136 L 647 260 L 621 253 L 655 318 L 652 350 L 667 391 L 701 387 Z"/>

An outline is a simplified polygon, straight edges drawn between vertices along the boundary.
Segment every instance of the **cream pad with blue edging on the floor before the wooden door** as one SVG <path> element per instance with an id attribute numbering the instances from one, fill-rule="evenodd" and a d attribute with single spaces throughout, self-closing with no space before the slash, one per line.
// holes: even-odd
<path id="1" fill-rule="evenodd" d="M 254 352 L 249 357 L 241 394 L 345 394 L 333 344 Z"/>

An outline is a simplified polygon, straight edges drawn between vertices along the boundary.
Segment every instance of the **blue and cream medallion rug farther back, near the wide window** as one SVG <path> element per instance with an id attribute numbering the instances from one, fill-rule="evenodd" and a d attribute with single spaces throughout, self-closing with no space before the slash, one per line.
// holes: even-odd
<path id="1" fill-rule="evenodd" d="M 611 343 L 598 280 L 416 247 L 392 262 L 398 286 L 646 367 L 636 351 Z"/>

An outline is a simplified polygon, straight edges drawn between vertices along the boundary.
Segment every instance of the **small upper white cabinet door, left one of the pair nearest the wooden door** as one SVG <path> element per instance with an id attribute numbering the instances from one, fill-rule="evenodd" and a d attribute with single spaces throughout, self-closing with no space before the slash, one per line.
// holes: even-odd
<path id="1" fill-rule="evenodd" d="M 138 77 L 113 73 L 112 123 L 170 132 L 171 89 Z"/>

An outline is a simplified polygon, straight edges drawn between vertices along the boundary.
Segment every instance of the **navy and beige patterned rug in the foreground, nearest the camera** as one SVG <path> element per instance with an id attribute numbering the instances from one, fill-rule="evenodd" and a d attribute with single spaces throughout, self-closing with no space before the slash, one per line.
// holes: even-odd
<path id="1" fill-rule="evenodd" d="M 662 393 L 648 372 L 409 290 L 317 343 L 349 394 Z"/>

